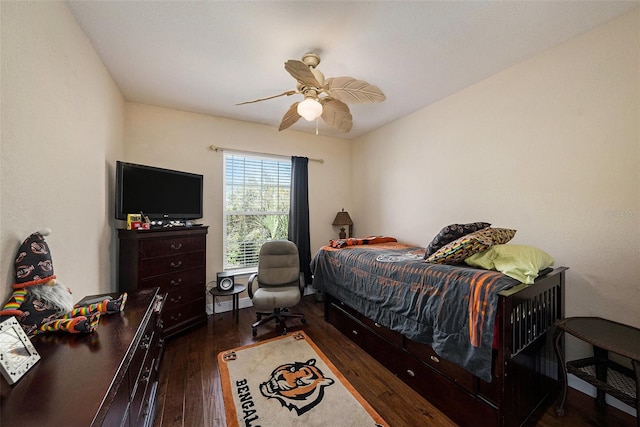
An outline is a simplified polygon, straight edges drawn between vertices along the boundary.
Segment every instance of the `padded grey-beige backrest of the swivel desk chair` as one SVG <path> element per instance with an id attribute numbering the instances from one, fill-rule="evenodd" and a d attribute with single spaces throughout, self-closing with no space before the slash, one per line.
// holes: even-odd
<path id="1" fill-rule="evenodd" d="M 292 285 L 300 279 L 298 247 L 289 240 L 269 240 L 260 248 L 258 283 L 260 286 Z"/>

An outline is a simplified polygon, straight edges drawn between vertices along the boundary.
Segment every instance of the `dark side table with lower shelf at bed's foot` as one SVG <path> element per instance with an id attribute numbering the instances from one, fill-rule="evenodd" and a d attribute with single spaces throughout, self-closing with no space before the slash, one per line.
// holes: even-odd
<path id="1" fill-rule="evenodd" d="M 600 317 L 568 317 L 556 321 L 555 326 L 556 355 L 563 373 L 562 400 L 556 409 L 558 416 L 564 415 L 568 372 L 597 388 L 599 406 L 606 405 L 607 393 L 640 409 L 640 329 Z M 593 357 L 565 363 L 560 345 L 565 332 L 593 345 Z M 609 360 L 609 352 L 631 359 L 633 370 Z"/>

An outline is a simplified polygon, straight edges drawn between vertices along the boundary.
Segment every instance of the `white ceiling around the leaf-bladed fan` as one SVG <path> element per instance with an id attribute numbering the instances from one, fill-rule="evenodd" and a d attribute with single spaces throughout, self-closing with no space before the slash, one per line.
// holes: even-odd
<path id="1" fill-rule="evenodd" d="M 351 105 L 354 138 L 640 5 L 635 1 L 68 1 L 131 102 L 277 128 L 301 95 L 288 59 L 378 86 Z M 291 127 L 315 132 L 301 119 Z M 287 132 L 287 130 L 283 131 Z"/>

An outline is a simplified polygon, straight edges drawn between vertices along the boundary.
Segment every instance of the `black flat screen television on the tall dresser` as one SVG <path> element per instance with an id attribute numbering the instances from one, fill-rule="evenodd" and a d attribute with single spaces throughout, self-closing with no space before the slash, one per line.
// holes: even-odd
<path id="1" fill-rule="evenodd" d="M 116 162 L 116 219 L 144 213 L 150 220 L 202 218 L 203 176 Z"/>

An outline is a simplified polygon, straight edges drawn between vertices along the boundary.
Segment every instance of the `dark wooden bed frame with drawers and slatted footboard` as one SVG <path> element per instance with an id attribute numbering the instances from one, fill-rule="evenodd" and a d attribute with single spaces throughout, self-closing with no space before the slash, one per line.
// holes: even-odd
<path id="1" fill-rule="evenodd" d="M 459 425 L 519 426 L 559 390 L 549 331 L 564 315 L 565 270 L 557 268 L 533 285 L 500 294 L 496 318 L 500 341 L 493 351 L 491 382 L 328 294 L 325 317 Z"/>

